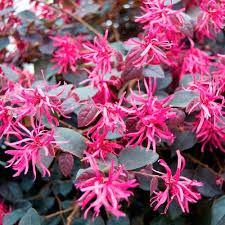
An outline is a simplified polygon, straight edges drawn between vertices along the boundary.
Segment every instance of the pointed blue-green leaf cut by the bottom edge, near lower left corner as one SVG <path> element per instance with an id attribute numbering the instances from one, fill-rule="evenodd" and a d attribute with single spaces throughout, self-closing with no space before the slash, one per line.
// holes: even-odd
<path id="1" fill-rule="evenodd" d="M 19 225 L 41 225 L 40 216 L 35 209 L 30 208 L 20 220 Z"/>

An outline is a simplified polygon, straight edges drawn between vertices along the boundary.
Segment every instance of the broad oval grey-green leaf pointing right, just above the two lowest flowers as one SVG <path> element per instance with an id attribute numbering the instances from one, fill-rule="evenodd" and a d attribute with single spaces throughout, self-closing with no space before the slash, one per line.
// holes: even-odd
<path id="1" fill-rule="evenodd" d="M 129 149 L 126 148 L 119 155 L 119 163 L 125 166 L 126 170 L 135 170 L 153 164 L 159 158 L 157 153 L 152 150 L 146 151 L 145 148 L 141 149 L 139 146 Z"/>

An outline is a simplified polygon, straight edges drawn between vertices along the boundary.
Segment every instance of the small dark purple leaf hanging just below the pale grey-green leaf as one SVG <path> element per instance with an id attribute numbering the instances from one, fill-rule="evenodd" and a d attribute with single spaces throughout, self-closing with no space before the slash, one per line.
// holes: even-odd
<path id="1" fill-rule="evenodd" d="M 74 159 L 69 153 L 61 153 L 59 156 L 59 168 L 62 174 L 67 177 L 73 168 Z"/>

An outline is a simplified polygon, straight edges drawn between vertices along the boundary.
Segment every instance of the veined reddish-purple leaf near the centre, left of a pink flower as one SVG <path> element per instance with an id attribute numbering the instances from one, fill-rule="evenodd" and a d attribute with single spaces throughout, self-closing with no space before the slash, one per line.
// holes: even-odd
<path id="1" fill-rule="evenodd" d="M 78 127 L 85 127 L 91 124 L 100 111 L 94 104 L 85 105 L 77 115 Z"/>

